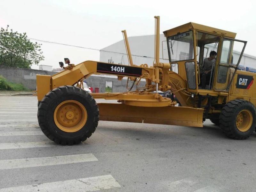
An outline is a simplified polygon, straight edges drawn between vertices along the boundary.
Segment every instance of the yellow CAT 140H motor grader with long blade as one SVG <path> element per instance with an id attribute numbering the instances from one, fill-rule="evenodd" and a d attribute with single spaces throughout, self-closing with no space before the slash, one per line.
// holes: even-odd
<path id="1" fill-rule="evenodd" d="M 252 134 L 256 124 L 256 74 L 238 70 L 246 42 L 236 40 L 236 33 L 190 22 L 164 31 L 169 62 L 162 63 L 159 16 L 155 16 L 155 27 L 152 67 L 133 64 L 124 30 L 129 65 L 97 61 L 74 65 L 66 59 L 67 67 L 60 62 L 65 70 L 36 76 L 38 122 L 50 140 L 62 145 L 80 143 L 92 135 L 99 120 L 203 127 L 203 121 L 210 119 L 230 138 L 243 140 Z M 216 61 L 202 89 L 200 70 L 211 51 L 217 52 Z M 127 77 L 138 88 L 89 94 L 79 85 L 92 74 L 116 75 L 118 80 Z M 179 106 L 158 91 L 171 91 Z M 117 103 L 97 104 L 95 99 Z"/>

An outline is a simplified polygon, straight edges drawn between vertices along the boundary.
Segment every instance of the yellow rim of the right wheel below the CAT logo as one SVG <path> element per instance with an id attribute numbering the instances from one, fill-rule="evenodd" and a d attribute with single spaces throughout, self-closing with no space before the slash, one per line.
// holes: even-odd
<path id="1" fill-rule="evenodd" d="M 236 127 L 241 132 L 248 131 L 252 126 L 252 113 L 249 110 L 242 110 L 236 116 Z"/>

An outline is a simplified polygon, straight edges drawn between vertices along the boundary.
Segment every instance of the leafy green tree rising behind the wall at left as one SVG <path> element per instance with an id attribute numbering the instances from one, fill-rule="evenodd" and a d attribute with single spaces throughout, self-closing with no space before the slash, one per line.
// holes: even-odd
<path id="1" fill-rule="evenodd" d="M 44 60 L 42 44 L 31 42 L 26 33 L 7 28 L 0 31 L 0 66 L 30 68 Z"/>

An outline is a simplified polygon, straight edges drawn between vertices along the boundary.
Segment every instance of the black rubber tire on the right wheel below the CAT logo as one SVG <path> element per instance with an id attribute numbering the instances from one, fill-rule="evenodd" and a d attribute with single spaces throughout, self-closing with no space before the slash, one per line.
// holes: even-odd
<path id="1" fill-rule="evenodd" d="M 242 114 L 243 111 L 247 111 L 246 113 L 250 112 L 252 117 L 251 120 L 247 120 L 245 122 L 249 122 L 247 127 L 248 129 L 239 130 L 237 127 L 237 118 L 238 114 Z M 241 112 L 241 113 L 240 113 Z M 248 117 L 247 117 L 248 116 Z M 236 99 L 228 102 L 221 110 L 220 113 L 220 128 L 223 132 L 232 139 L 237 140 L 244 140 L 252 135 L 252 132 L 255 129 L 255 117 L 256 117 L 256 110 L 254 105 L 246 100 Z M 243 115 L 242 118 L 250 118 L 250 115 Z M 252 124 L 250 123 L 252 122 Z M 251 126 L 250 126 L 251 124 Z M 246 126 L 245 126 L 246 127 Z M 240 128 L 241 129 L 241 128 Z"/>

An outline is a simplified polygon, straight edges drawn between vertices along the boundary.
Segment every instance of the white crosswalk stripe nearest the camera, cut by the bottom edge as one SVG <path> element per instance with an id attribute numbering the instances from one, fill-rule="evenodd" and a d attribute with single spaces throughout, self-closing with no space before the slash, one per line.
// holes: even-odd
<path id="1" fill-rule="evenodd" d="M 2 188 L 0 192 L 46 192 L 46 191 L 99 191 L 103 189 L 110 189 L 121 187 L 112 175 L 102 175 L 97 177 L 89 177 L 74 180 L 57 181 L 51 183 L 43 183 L 40 185 L 25 185 L 11 188 Z"/>

